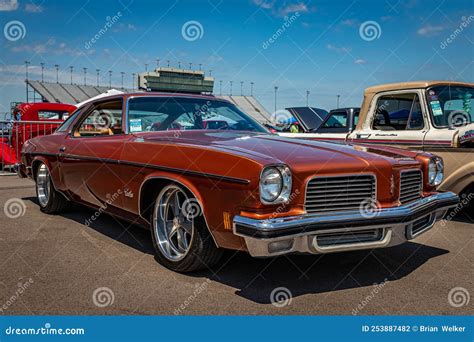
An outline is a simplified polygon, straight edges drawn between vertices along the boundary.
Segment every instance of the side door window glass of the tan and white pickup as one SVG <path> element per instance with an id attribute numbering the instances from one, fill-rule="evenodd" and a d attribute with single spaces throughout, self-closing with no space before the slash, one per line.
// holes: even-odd
<path id="1" fill-rule="evenodd" d="M 405 131 L 423 127 L 423 114 L 417 94 L 393 94 L 378 98 L 372 129 Z"/>

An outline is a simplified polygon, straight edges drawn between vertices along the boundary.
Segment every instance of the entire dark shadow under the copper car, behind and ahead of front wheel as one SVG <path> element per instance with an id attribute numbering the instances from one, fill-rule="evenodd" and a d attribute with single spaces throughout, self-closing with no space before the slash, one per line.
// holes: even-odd
<path id="1" fill-rule="evenodd" d="M 33 197 L 24 199 L 37 203 Z M 74 205 L 72 210 L 61 216 L 143 253 L 154 254 L 150 233 L 146 229 L 131 226 L 109 215 L 100 215 L 85 225 L 85 220 L 92 214 L 94 210 Z M 294 298 L 383 284 L 403 278 L 431 258 L 446 253 L 449 251 L 414 242 L 372 251 L 274 258 L 252 258 L 247 253 L 226 251 L 221 262 L 212 270 L 187 276 L 208 278 L 235 288 L 238 296 L 270 304 L 272 292 L 277 288 L 285 288 Z M 162 266 L 157 264 L 156 267 Z"/>

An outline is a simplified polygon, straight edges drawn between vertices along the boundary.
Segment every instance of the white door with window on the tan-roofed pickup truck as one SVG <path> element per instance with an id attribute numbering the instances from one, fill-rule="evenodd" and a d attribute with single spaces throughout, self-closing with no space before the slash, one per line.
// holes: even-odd
<path id="1" fill-rule="evenodd" d="M 422 149 L 429 126 L 421 95 L 418 90 L 376 95 L 362 129 L 352 135 L 353 141 Z"/>

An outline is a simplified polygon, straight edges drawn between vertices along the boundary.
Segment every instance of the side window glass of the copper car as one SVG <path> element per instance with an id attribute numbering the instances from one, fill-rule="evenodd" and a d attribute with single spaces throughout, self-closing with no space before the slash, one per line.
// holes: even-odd
<path id="1" fill-rule="evenodd" d="M 82 120 L 75 137 L 123 134 L 122 101 L 101 103 Z"/>

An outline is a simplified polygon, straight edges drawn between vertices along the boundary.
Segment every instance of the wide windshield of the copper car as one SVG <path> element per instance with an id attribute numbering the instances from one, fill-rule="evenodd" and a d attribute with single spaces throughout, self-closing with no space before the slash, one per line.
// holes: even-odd
<path id="1" fill-rule="evenodd" d="M 224 101 L 184 97 L 140 96 L 128 105 L 130 133 L 183 130 L 268 131 Z"/>

